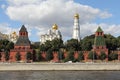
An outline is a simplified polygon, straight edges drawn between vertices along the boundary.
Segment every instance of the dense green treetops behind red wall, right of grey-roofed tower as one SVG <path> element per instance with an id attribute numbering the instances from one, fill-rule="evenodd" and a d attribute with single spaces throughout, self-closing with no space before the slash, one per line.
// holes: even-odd
<path id="1" fill-rule="evenodd" d="M 64 49 L 67 51 L 90 51 L 94 45 L 95 35 L 86 36 L 80 40 L 70 39 L 63 43 L 61 39 L 54 39 L 52 41 L 46 41 L 44 44 L 33 45 L 33 48 L 39 49 L 40 51 L 59 51 Z M 111 34 L 104 35 L 106 47 L 111 51 L 118 50 L 120 48 L 120 36 L 114 37 Z"/>

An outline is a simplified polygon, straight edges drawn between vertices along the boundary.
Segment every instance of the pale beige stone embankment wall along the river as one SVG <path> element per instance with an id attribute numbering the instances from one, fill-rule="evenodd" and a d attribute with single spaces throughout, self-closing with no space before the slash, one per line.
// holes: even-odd
<path id="1" fill-rule="evenodd" d="M 0 63 L 4 70 L 120 70 L 120 63 Z"/>

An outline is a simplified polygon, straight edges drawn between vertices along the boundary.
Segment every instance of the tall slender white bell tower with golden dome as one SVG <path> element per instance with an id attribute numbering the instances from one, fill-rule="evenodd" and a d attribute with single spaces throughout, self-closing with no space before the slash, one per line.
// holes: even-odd
<path id="1" fill-rule="evenodd" d="M 73 26 L 73 39 L 80 41 L 80 26 L 79 26 L 79 14 L 74 15 L 74 26 Z"/>

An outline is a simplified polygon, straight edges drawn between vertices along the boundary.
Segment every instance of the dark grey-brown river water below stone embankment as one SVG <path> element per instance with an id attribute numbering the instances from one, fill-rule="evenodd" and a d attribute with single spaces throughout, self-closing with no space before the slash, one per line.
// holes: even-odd
<path id="1" fill-rule="evenodd" d="M 120 71 L 0 71 L 0 80 L 120 80 Z"/>

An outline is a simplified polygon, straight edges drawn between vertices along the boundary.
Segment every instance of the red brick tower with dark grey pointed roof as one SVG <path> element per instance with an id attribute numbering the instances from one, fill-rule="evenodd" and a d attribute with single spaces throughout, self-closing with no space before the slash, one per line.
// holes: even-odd
<path id="1" fill-rule="evenodd" d="M 10 50 L 10 62 L 16 61 L 16 54 L 19 53 L 21 60 L 26 61 L 26 54 L 30 52 L 33 54 L 33 49 L 31 49 L 31 42 L 28 38 L 28 32 L 25 26 L 23 25 L 19 31 L 19 37 L 17 42 L 14 45 L 14 49 Z"/>

